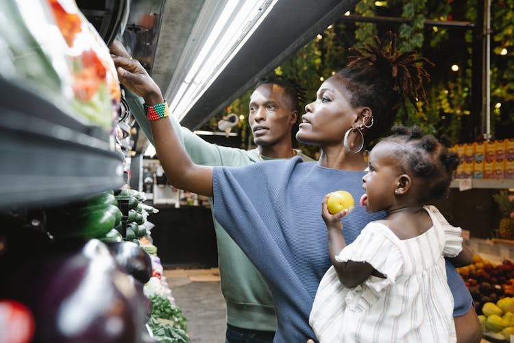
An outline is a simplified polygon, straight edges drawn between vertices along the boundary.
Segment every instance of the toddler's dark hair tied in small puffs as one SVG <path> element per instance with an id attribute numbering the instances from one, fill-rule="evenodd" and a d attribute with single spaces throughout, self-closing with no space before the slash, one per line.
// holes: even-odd
<path id="1" fill-rule="evenodd" d="M 396 143 L 400 171 L 410 171 L 423 181 L 426 191 L 420 194 L 419 201 L 426 203 L 447 196 L 452 173 L 460 163 L 458 154 L 448 150 L 450 139 L 436 139 L 418 126 L 393 126 L 392 130 L 394 134 L 383 141 Z"/>

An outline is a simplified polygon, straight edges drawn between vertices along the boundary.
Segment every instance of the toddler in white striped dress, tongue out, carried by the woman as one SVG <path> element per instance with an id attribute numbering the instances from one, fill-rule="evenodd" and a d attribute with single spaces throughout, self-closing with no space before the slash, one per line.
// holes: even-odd
<path id="1" fill-rule="evenodd" d="M 461 228 L 428 202 L 445 197 L 459 161 L 450 144 L 395 126 L 369 153 L 360 206 L 386 211 L 346 244 L 339 213 L 321 215 L 332 267 L 319 284 L 310 326 L 320 342 L 456 342 L 445 260 L 473 263 Z"/>

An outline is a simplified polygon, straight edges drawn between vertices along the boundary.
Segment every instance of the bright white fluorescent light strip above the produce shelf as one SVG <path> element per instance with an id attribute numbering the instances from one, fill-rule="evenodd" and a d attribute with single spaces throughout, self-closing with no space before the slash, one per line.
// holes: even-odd
<path id="1" fill-rule="evenodd" d="M 206 11 L 207 8 L 210 11 L 218 9 L 217 20 L 213 23 L 206 13 L 199 17 L 199 26 L 195 27 L 195 32 L 204 34 L 193 36 L 192 39 L 204 43 L 201 43 L 201 49 L 188 43 L 188 49 L 184 49 L 179 67 L 166 92 L 170 110 L 179 121 L 252 36 L 277 1 L 226 0 L 223 10 L 219 10 L 221 6 L 216 7 L 220 5 L 219 2 L 206 1 Z M 194 61 L 191 63 L 192 58 Z"/>

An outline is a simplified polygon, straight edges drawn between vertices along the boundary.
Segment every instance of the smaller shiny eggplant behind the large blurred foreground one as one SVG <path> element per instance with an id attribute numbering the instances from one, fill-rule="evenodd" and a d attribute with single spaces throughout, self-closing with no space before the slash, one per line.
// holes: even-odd
<path id="1" fill-rule="evenodd" d="M 134 276 L 134 279 L 141 283 L 147 283 L 151 278 L 150 255 L 132 241 L 110 241 L 105 242 L 114 259 L 118 261 L 121 268 Z"/>

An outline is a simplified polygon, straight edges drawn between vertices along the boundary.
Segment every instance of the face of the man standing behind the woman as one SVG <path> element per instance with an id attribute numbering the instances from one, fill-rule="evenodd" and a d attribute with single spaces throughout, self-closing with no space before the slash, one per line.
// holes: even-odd
<path id="1" fill-rule="evenodd" d="M 248 121 L 257 145 L 274 145 L 291 141 L 291 128 L 297 111 L 284 95 L 284 88 L 276 84 L 262 84 L 252 93 Z"/>

